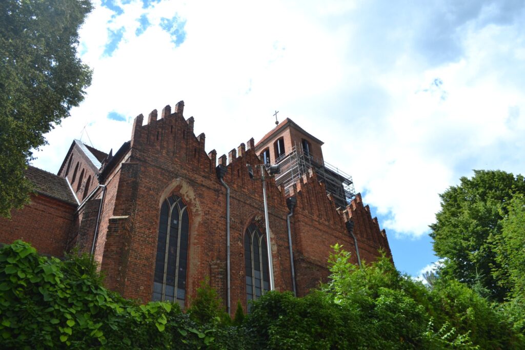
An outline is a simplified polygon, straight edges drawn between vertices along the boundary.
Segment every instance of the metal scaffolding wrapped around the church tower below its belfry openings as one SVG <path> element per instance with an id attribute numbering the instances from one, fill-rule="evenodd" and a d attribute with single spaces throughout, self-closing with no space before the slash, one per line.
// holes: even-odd
<path id="1" fill-rule="evenodd" d="M 285 187 L 286 195 L 290 193 L 290 187 L 299 181 L 309 168 L 313 168 L 337 207 L 346 207 L 355 197 L 354 183 L 350 175 L 323 160 L 315 159 L 308 152 L 304 152 L 302 147 L 297 147 L 297 144 L 289 154 L 277 158 L 276 164 L 280 165 L 281 172 L 276 175 L 275 182 L 278 186 Z"/>

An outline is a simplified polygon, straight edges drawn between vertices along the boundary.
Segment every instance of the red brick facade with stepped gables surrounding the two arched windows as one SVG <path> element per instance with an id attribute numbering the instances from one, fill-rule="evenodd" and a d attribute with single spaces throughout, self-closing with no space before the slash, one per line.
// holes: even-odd
<path id="1" fill-rule="evenodd" d="M 216 176 L 215 151 L 206 154 L 205 135 L 195 137 L 193 118 L 183 118 L 181 105 L 173 114 L 171 108 L 165 108 L 160 119 L 152 112 L 148 124 L 142 125 L 142 119 L 140 115 L 135 120 L 129 158 L 106 183 L 96 256 L 108 284 L 125 297 L 151 299 L 160 207 L 166 197 L 177 194 L 190 214 L 186 305 L 205 277 L 226 304 L 226 189 Z M 266 232 L 260 171 L 254 167 L 256 179 L 250 179 L 246 168 L 246 164 L 255 166 L 260 160 L 248 144 L 248 150 L 241 144 L 229 152 L 224 177 L 230 187 L 231 304 L 240 300 L 244 307 L 244 235 L 252 222 Z M 226 164 L 226 155 L 219 157 L 219 163 Z M 354 262 L 357 260 L 344 225 L 348 214 L 338 213 L 315 175 L 304 176 L 291 194 L 297 196 L 291 219 L 297 287 L 299 295 L 304 295 L 327 277 L 330 245 L 343 244 L 353 252 Z M 267 177 L 267 199 L 276 289 L 291 290 L 289 210 L 281 188 L 271 177 Z M 363 213 L 357 209 L 352 215 L 358 220 Z M 364 215 L 355 230 L 363 225 L 375 230 L 369 216 Z M 365 236 L 379 235 L 379 226 L 377 232 L 370 232 Z M 365 257 L 373 254 L 375 246 L 369 246 L 367 241 L 360 242 Z"/>

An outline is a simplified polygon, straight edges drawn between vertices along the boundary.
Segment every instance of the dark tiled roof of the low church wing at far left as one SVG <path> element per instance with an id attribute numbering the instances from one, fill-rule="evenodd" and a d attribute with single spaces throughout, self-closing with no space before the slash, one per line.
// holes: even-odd
<path id="1" fill-rule="evenodd" d="M 34 166 L 27 168 L 26 177 L 35 184 L 36 192 L 65 201 L 69 204 L 78 205 L 65 178 Z"/>

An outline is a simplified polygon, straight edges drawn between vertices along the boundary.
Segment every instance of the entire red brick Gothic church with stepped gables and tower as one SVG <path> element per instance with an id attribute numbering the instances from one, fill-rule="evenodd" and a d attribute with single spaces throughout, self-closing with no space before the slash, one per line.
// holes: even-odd
<path id="1" fill-rule="evenodd" d="M 188 306 L 207 277 L 230 313 L 272 288 L 306 294 L 327 278 L 335 243 L 356 264 L 379 249 L 391 256 L 352 178 L 298 124 L 286 119 L 217 158 L 183 112 L 181 101 L 146 123 L 140 114 L 114 153 L 73 141 L 57 175 L 29 167 L 36 193 L 0 218 L 0 242 L 56 257 L 78 247 L 108 288 L 144 302 Z"/>

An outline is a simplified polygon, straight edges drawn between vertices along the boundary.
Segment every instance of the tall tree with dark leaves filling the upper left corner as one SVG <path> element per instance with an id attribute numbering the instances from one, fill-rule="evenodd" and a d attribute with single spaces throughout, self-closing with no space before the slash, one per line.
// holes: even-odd
<path id="1" fill-rule="evenodd" d="M 29 200 L 24 170 L 44 135 L 82 101 L 91 71 L 76 56 L 89 0 L 0 2 L 0 215 Z"/>

